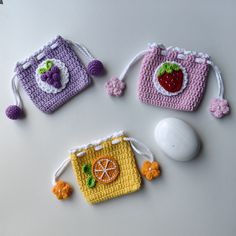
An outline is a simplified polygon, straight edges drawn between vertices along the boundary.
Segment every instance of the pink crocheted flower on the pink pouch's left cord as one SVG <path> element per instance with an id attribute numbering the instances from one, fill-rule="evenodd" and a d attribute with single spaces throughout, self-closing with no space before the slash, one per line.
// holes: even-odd
<path id="1" fill-rule="evenodd" d="M 113 77 L 106 82 L 105 89 L 111 96 L 121 96 L 125 89 L 125 83 L 122 80 Z"/>

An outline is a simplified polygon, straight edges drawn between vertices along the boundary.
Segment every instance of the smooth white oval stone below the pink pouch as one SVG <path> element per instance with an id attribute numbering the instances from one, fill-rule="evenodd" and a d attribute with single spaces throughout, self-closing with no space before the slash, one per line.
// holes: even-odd
<path id="1" fill-rule="evenodd" d="M 154 135 L 162 152 L 176 161 L 189 161 L 199 152 L 198 135 L 190 125 L 180 119 L 161 120 Z"/>

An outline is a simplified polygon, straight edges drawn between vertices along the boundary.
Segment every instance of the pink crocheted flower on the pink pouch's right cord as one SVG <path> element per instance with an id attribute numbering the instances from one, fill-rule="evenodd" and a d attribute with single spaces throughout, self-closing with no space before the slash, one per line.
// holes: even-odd
<path id="1" fill-rule="evenodd" d="M 225 99 L 221 98 L 214 98 L 211 101 L 210 105 L 210 112 L 212 115 L 216 118 L 221 118 L 224 115 L 228 114 L 230 109 L 229 109 L 229 103 Z"/>

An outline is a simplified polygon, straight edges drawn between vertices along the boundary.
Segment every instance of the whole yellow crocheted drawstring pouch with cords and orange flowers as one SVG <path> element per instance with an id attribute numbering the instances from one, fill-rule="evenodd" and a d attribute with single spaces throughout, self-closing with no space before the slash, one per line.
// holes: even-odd
<path id="1" fill-rule="evenodd" d="M 71 185 L 59 179 L 70 163 L 81 192 L 91 204 L 135 192 L 141 186 L 141 177 L 134 152 L 147 159 L 141 168 L 146 179 L 160 175 L 159 163 L 151 151 L 120 131 L 71 149 L 53 175 L 52 192 L 60 200 L 70 197 Z"/>

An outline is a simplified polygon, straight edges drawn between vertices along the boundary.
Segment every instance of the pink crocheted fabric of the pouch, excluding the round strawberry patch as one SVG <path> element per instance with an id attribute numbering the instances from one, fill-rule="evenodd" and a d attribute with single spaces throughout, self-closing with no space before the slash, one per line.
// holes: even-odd
<path id="1" fill-rule="evenodd" d="M 189 54 L 184 59 L 177 58 L 179 52 L 170 49 L 167 55 L 162 55 L 162 48 L 154 46 L 144 56 L 138 81 L 138 97 L 147 104 L 172 108 L 183 111 L 194 111 L 199 106 L 206 86 L 206 78 L 209 70 L 207 58 L 203 62 L 196 62 L 199 56 Z M 153 84 L 153 74 L 162 62 L 175 61 L 183 66 L 188 74 L 188 84 L 178 95 L 165 96 L 157 91 Z"/>

